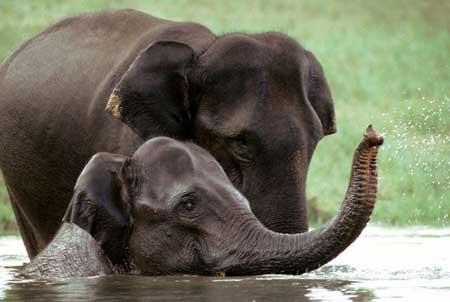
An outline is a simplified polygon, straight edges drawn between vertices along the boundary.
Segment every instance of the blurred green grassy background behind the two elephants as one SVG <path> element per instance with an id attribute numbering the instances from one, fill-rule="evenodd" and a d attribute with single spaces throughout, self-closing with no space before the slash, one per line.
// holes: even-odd
<path id="1" fill-rule="evenodd" d="M 323 139 L 308 178 L 310 218 L 340 205 L 353 150 L 369 123 L 384 132 L 373 221 L 450 226 L 449 1 L 0 1 L 0 59 L 66 16 L 135 8 L 200 22 L 215 33 L 282 31 L 321 61 L 338 133 Z M 0 184 L 0 230 L 14 232 Z"/>

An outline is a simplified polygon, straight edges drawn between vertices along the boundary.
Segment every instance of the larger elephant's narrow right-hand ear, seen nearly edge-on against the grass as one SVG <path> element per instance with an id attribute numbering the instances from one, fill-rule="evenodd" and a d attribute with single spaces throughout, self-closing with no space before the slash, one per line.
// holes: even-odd
<path id="1" fill-rule="evenodd" d="M 322 123 L 324 135 L 336 133 L 333 98 L 322 66 L 310 51 L 306 51 L 306 57 L 309 65 L 309 81 L 306 81 L 308 99 Z"/>

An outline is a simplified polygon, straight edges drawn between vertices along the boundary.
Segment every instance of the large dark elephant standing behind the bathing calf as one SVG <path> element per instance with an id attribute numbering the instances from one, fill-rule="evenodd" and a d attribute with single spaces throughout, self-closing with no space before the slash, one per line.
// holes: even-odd
<path id="1" fill-rule="evenodd" d="M 265 226 L 304 232 L 308 165 L 336 131 L 320 63 L 289 37 L 216 36 L 134 10 L 51 26 L 1 65 L 0 91 L 0 168 L 31 258 L 93 154 L 155 136 L 206 148 Z"/>

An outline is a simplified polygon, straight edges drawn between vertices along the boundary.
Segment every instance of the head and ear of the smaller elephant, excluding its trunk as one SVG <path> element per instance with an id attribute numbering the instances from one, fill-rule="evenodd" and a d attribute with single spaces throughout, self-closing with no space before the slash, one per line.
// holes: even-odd
<path id="1" fill-rule="evenodd" d="M 64 221 L 89 232 L 113 264 L 137 273 L 208 273 L 240 212 L 251 213 L 247 199 L 207 151 L 158 137 L 129 158 L 95 155 Z"/>

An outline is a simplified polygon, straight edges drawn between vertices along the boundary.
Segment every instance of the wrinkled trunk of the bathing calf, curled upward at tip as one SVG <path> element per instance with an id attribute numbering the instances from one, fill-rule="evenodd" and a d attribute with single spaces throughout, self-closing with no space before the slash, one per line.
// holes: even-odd
<path id="1" fill-rule="evenodd" d="M 382 143 L 383 137 L 369 126 L 355 151 L 348 191 L 336 217 L 300 234 L 275 233 L 249 219 L 242 226 L 247 230 L 236 235 L 241 238 L 239 245 L 227 251 L 230 257 L 225 257 L 221 271 L 231 275 L 302 274 L 339 255 L 370 219 L 377 192 L 376 156 Z"/>

